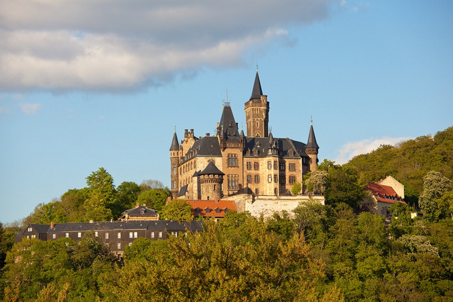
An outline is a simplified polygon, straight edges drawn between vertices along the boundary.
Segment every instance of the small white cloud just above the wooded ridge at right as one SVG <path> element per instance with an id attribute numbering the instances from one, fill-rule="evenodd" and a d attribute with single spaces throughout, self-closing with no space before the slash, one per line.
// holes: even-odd
<path id="1" fill-rule="evenodd" d="M 354 156 L 370 153 L 372 150 L 379 148 L 380 145 L 395 145 L 398 142 L 409 139 L 411 139 L 411 137 L 383 137 L 378 139 L 364 139 L 355 142 L 348 142 L 340 148 L 339 155 L 335 159 L 335 163 L 342 165 L 347 163 Z"/>

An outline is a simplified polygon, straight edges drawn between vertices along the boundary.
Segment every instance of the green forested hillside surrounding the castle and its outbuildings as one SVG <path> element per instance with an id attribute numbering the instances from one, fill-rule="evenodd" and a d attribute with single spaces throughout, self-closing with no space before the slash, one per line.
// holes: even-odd
<path id="1" fill-rule="evenodd" d="M 229 211 L 204 232 L 140 238 L 123 257 L 100 238 L 79 243 L 24 239 L 0 223 L 4 301 L 453 301 L 453 127 L 398 146 L 381 146 L 345 165 L 325 160 L 306 180 L 326 204 L 300 203 L 264 220 Z M 406 186 L 392 221 L 355 210 L 363 186 L 392 175 Z M 40 204 L 22 221 L 115 219 L 135 202 L 161 215 L 170 195 L 158 181 L 118 187 L 100 168 L 87 187 Z M 182 203 L 187 205 L 186 203 Z M 423 217 L 411 218 L 418 204 Z M 170 205 L 170 204 L 169 204 Z M 185 216 L 187 217 L 187 216 Z M 185 218 L 187 219 L 187 218 Z"/>

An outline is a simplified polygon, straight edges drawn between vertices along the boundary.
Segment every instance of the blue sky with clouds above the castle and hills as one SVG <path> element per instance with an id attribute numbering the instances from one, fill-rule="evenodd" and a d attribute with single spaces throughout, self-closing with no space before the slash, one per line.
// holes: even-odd
<path id="1" fill-rule="evenodd" d="M 105 168 L 170 186 L 175 131 L 245 127 L 258 73 L 274 137 L 346 163 L 453 126 L 453 2 L 0 0 L 0 221 Z"/>

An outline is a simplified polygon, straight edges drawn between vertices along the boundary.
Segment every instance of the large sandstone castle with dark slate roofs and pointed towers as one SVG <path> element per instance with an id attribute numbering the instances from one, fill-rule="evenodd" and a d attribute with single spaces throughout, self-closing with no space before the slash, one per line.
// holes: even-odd
<path id="1" fill-rule="evenodd" d="M 228 100 L 223 104 L 217 133 L 196 137 L 184 130 L 170 147 L 173 198 L 220 199 L 237 194 L 288 195 L 295 182 L 314 171 L 318 149 L 313 124 L 307 144 L 274 138 L 269 131 L 269 102 L 256 72 L 252 96 L 245 103 L 247 135 L 239 130 Z"/>

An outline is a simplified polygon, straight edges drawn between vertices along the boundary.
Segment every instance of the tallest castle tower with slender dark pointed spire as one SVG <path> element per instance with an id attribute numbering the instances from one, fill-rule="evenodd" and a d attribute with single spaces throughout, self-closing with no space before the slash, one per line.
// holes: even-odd
<path id="1" fill-rule="evenodd" d="M 261 90 L 258 69 L 256 70 L 255 84 L 253 85 L 252 96 L 245 103 L 245 114 L 247 123 L 247 136 L 267 137 L 269 133 L 269 102 L 267 96 Z"/>

